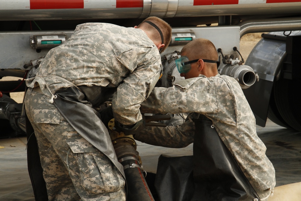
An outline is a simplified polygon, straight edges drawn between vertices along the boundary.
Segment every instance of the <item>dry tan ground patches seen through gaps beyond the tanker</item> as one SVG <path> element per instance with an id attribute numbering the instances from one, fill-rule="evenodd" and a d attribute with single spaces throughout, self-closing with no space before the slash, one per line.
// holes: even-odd
<path id="1" fill-rule="evenodd" d="M 244 60 L 246 61 L 248 58 L 248 55 L 252 51 L 253 47 L 256 45 L 256 43 L 261 39 L 262 33 L 248 33 L 241 37 L 240 39 L 240 54 L 243 56 Z M 21 78 L 18 77 L 4 77 L 0 81 L 5 80 L 19 80 Z M 23 92 L 16 92 L 11 93 L 11 98 L 14 99 L 17 103 L 22 103 L 23 101 Z"/>

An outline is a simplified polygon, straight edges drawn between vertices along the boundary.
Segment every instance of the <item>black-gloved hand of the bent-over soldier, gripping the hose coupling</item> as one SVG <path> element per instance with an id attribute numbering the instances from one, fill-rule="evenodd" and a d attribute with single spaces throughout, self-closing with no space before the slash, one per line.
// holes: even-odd
<path id="1" fill-rule="evenodd" d="M 145 127 L 145 118 L 142 114 L 142 119 L 133 125 L 122 125 L 118 121 L 115 120 L 115 127 L 113 128 L 114 131 L 121 132 L 125 135 L 134 135 L 138 132 L 141 132 Z"/>

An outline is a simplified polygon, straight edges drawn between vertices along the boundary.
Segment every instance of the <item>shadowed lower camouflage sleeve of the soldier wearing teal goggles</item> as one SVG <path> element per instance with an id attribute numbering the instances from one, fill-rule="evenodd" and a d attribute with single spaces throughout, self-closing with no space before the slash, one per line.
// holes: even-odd
<path id="1" fill-rule="evenodd" d="M 196 114 L 188 115 L 186 121 L 178 126 L 145 127 L 140 133 L 135 134 L 135 140 L 169 148 L 183 148 L 193 143 L 194 118 Z"/>

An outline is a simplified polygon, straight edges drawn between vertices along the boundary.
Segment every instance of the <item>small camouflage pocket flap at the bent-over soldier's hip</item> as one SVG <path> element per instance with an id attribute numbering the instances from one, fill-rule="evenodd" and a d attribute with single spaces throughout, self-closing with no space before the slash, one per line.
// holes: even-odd
<path id="1" fill-rule="evenodd" d="M 44 124 L 59 124 L 61 113 L 53 109 L 36 109 L 33 110 L 34 122 Z"/>

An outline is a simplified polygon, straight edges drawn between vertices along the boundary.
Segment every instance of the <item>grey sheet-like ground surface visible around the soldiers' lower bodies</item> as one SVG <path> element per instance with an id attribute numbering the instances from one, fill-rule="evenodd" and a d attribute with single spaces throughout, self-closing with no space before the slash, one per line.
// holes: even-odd
<path id="1" fill-rule="evenodd" d="M 270 120 L 267 121 L 266 127 L 256 126 L 256 131 L 267 147 L 266 155 L 275 167 L 276 186 L 298 184 L 301 181 L 301 133 L 278 126 Z M 144 170 L 147 172 L 156 171 L 158 157 L 161 154 L 181 156 L 191 155 L 193 152 L 192 144 L 185 148 L 172 149 L 151 146 L 139 141 L 136 143 Z M 33 188 L 27 171 L 26 137 L 2 139 L 0 140 L 1 147 L 0 200 L 34 201 Z M 288 190 L 285 193 L 292 195 L 296 192 Z M 288 196 L 286 199 L 273 200 L 296 201 L 300 199 L 290 199 Z"/>

